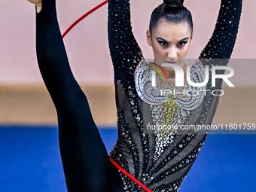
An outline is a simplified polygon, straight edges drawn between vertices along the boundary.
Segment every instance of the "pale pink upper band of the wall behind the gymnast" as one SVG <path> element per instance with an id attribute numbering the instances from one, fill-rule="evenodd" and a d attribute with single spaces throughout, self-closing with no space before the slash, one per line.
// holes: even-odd
<path id="1" fill-rule="evenodd" d="M 102 0 L 57 0 L 59 26 L 64 32 Z M 152 58 L 145 31 L 151 11 L 160 0 L 131 0 L 133 31 L 145 58 Z M 194 44 L 187 58 L 197 58 L 209 41 L 218 15 L 219 0 L 187 0 L 194 17 Z M 239 35 L 232 58 L 255 58 L 256 1 L 244 0 Z M 113 70 L 107 41 L 105 5 L 83 20 L 65 38 L 75 77 L 81 84 L 112 84 Z M 35 57 L 35 10 L 26 0 L 1 0 L 0 84 L 42 84 Z M 256 66 L 255 68 L 256 69 Z M 255 82 L 256 84 L 256 82 Z"/>

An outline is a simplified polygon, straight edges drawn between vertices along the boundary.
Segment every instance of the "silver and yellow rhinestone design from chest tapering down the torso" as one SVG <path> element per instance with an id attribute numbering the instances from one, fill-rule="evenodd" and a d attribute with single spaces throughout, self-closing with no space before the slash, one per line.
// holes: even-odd
<path id="1" fill-rule="evenodd" d="M 199 59 L 197 59 L 197 62 L 190 69 L 190 79 L 194 83 L 201 83 L 205 79 L 205 68 Z M 152 87 L 152 70 L 150 70 L 148 63 L 144 59 L 142 59 L 136 68 L 135 81 L 136 91 L 139 97 L 149 105 L 152 126 L 154 126 L 154 130 L 157 130 L 155 132 L 154 151 L 154 161 L 156 161 L 165 148 L 175 139 L 177 130 L 174 130 L 173 127 L 184 124 L 190 115 L 190 111 L 201 105 L 204 98 L 204 92 L 202 90 L 205 90 L 206 86 L 191 87 L 189 84 L 185 84 L 183 93 L 187 92 L 186 90 L 190 90 L 191 92 L 197 90 L 198 94 L 182 95 L 182 88 L 177 89 L 173 87 L 173 81 L 170 84 L 170 81 L 163 82 L 157 77 L 156 86 Z M 173 92 L 174 89 L 178 90 L 176 93 L 179 92 L 177 96 L 173 93 L 167 95 L 160 94 L 163 93 L 163 90 Z M 156 126 L 160 129 L 156 129 Z M 179 145 L 180 148 L 182 146 L 182 144 Z"/>

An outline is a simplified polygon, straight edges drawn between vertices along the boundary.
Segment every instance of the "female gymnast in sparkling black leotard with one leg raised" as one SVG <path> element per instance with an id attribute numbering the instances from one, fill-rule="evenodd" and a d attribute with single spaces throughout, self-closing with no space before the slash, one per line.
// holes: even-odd
<path id="1" fill-rule="evenodd" d="M 145 121 L 158 125 L 209 125 L 219 99 L 209 93 L 158 96 L 157 90 L 152 90 L 152 81 L 148 80 L 154 72 L 163 70 L 166 81 L 156 75 L 157 86 L 166 83 L 169 90 L 174 89 L 171 84 L 174 70 L 161 66 L 163 60 L 177 64 L 186 72 L 187 65 L 181 61 L 196 40 L 192 16 L 184 7 L 184 1 L 164 0 L 151 14 L 146 38 L 154 53 L 153 62 L 146 61 L 133 36 L 130 1 L 108 1 L 108 44 L 114 66 L 118 129 L 117 143 L 110 154 L 94 123 L 87 97 L 72 75 L 59 31 L 55 0 L 29 2 L 36 6 L 38 66 L 56 107 L 59 148 L 68 191 L 178 191 L 208 132 L 160 130 L 151 133 L 146 131 Z M 242 0 L 221 0 L 212 37 L 191 68 L 194 76 L 190 78 L 194 82 L 203 81 L 206 66 L 211 66 L 207 59 L 230 59 L 241 10 Z M 218 89 L 221 83 L 217 81 Z M 184 89 L 189 87 L 185 84 Z M 204 88 L 213 89 L 210 83 Z"/>

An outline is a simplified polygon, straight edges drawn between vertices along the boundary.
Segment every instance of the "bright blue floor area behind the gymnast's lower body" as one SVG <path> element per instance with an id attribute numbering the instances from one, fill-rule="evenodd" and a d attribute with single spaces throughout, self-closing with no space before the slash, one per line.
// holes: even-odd
<path id="1" fill-rule="evenodd" d="M 99 130 L 108 151 L 116 129 Z M 209 135 L 179 192 L 254 192 L 256 135 Z M 0 192 L 66 192 L 56 127 L 0 127 Z"/>

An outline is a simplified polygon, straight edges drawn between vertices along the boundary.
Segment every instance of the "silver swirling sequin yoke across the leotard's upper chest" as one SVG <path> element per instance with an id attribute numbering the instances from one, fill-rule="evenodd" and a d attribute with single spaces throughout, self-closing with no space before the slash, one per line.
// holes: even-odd
<path id="1" fill-rule="evenodd" d="M 166 103 L 166 105 L 178 105 L 178 107 L 185 110 L 194 110 L 203 102 L 205 86 L 204 87 L 192 87 L 189 84 L 185 84 L 184 89 L 178 89 L 174 87 L 175 81 L 160 81 L 160 77 L 156 78 L 156 86 L 152 86 L 152 72 L 148 67 L 148 63 L 142 59 L 136 68 L 135 82 L 136 91 L 139 97 L 150 105 L 160 105 Z M 200 59 L 190 69 L 190 79 L 194 83 L 202 83 L 205 79 L 205 68 L 200 62 Z M 175 90 L 175 92 L 174 92 Z M 191 96 L 188 96 L 187 90 L 191 92 Z M 193 93 L 197 91 L 196 93 Z M 169 94 L 171 93 L 172 94 Z M 173 96 L 173 93 L 175 96 Z M 198 93 L 198 94 L 197 94 Z"/>

